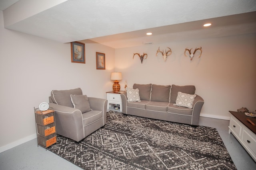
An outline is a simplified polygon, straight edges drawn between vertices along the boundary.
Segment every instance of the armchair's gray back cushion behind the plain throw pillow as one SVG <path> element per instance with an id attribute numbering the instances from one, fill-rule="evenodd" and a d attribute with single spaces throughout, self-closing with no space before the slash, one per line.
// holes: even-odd
<path id="1" fill-rule="evenodd" d="M 82 95 L 81 88 L 71 89 L 71 90 L 52 90 L 51 98 L 52 102 L 62 106 L 73 107 L 70 99 L 71 94 Z"/>

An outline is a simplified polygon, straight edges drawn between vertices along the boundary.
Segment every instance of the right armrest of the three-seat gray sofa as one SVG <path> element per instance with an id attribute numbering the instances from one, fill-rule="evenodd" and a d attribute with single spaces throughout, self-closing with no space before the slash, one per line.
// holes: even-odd
<path id="1" fill-rule="evenodd" d="M 192 112 L 191 125 L 198 126 L 200 112 L 201 112 L 203 104 L 204 104 L 204 99 L 201 96 L 196 95 L 196 98 L 195 98 L 194 103 L 193 103 L 193 112 Z"/>

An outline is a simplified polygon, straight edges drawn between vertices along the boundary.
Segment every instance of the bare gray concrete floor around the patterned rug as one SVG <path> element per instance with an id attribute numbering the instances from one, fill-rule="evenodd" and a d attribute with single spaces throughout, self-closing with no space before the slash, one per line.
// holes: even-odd
<path id="1" fill-rule="evenodd" d="M 256 162 L 240 145 L 236 138 L 228 133 L 229 121 L 200 117 L 200 125 L 214 127 L 218 130 L 222 141 L 238 170 L 255 170 Z M 36 139 L 0 153 L 0 170 L 80 170 L 78 166 L 37 147 Z"/>

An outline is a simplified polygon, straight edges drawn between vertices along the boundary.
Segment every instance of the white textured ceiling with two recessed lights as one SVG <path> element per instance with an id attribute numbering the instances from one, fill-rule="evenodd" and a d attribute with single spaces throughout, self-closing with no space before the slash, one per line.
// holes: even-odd
<path id="1" fill-rule="evenodd" d="M 42 10 L 50 1 L 57 5 Z M 31 8 L 33 14 L 6 25 Z M 8 29 L 113 48 L 256 32 L 256 0 L 0 0 L 0 10 Z M 212 26 L 203 28 L 206 22 Z"/>

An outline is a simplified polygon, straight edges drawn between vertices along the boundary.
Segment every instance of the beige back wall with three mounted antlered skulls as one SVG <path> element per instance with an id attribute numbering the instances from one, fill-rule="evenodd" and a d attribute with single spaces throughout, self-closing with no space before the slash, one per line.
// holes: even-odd
<path id="1" fill-rule="evenodd" d="M 170 47 L 166 62 L 156 50 Z M 184 57 L 186 47 L 202 46 L 202 56 L 192 61 Z M 147 53 L 140 63 L 133 53 Z M 124 88 L 139 84 L 176 84 L 196 86 L 196 94 L 204 98 L 201 116 L 229 119 L 229 110 L 256 109 L 256 34 L 211 39 L 170 42 L 116 49 L 116 70 L 122 72 Z"/>

